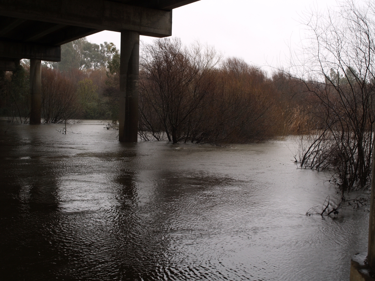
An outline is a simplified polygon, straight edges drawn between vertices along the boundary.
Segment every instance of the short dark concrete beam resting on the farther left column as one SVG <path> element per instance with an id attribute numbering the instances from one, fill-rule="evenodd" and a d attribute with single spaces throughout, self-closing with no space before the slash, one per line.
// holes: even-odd
<path id="1" fill-rule="evenodd" d="M 60 46 L 44 46 L 0 40 L 0 57 L 60 61 L 61 49 Z"/>

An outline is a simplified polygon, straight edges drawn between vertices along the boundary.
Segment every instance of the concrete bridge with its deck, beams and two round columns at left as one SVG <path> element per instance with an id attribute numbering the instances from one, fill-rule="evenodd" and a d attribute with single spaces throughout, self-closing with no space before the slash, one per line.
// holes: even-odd
<path id="1" fill-rule="evenodd" d="M 0 70 L 30 59 L 30 124 L 40 124 L 41 61 L 60 46 L 103 31 L 121 32 L 119 141 L 137 142 L 139 35 L 172 35 L 172 9 L 198 0 L 1 0 Z"/>

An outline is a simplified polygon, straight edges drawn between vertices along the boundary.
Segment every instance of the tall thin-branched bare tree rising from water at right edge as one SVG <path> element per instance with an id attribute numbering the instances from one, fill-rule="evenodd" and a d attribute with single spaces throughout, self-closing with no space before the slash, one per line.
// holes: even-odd
<path id="1" fill-rule="evenodd" d="M 307 26 L 313 36 L 311 69 L 301 81 L 312 96 L 315 130 L 303 135 L 300 165 L 332 169 L 333 181 L 345 191 L 368 187 L 375 120 L 374 6 L 352 2 L 328 16 L 314 14 Z"/>

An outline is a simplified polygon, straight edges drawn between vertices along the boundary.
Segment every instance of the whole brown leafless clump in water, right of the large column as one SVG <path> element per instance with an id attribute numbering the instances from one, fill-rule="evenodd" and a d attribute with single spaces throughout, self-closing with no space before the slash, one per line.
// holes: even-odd
<path id="1" fill-rule="evenodd" d="M 142 139 L 246 143 L 282 133 L 279 92 L 261 69 L 179 39 L 145 45 L 140 62 Z"/>

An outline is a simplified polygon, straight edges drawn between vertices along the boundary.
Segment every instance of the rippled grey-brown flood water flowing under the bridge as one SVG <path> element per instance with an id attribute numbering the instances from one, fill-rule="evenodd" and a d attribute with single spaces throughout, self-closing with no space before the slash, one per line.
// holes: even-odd
<path id="1" fill-rule="evenodd" d="M 0 123 L 1 280 L 342 281 L 367 251 L 366 208 L 305 215 L 335 189 L 296 169 L 291 139 L 126 144 L 96 121 L 61 128 Z"/>

